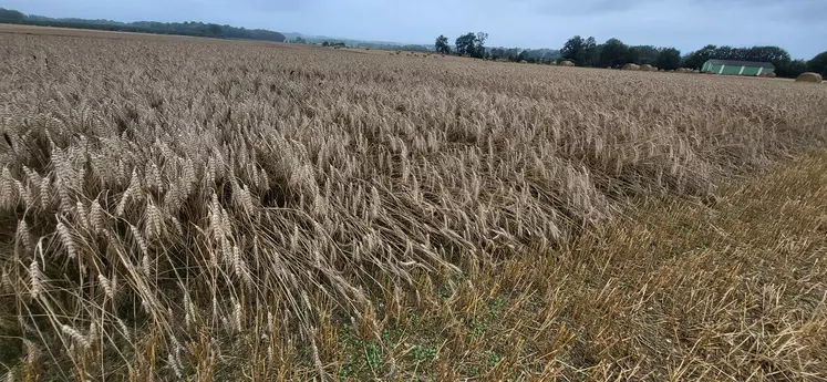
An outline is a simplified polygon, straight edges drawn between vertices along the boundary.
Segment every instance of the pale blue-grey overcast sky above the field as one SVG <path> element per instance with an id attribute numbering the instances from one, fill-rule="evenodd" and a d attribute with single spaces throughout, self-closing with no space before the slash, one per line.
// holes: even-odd
<path id="1" fill-rule="evenodd" d="M 797 59 L 827 50 L 827 0 L 0 0 L 56 18 L 204 21 L 281 32 L 433 43 L 484 31 L 487 45 L 559 49 L 598 42 L 778 45 Z"/>

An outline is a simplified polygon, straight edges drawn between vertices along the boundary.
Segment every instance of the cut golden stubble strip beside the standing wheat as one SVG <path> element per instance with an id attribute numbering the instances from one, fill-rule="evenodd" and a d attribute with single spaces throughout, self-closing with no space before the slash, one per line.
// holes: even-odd
<path id="1" fill-rule="evenodd" d="M 435 381 L 827 375 L 827 152 L 726 185 L 714 207 L 641 205 L 570 247 L 423 281 L 435 287 L 418 299 L 385 296 L 380 324 L 366 332 L 325 321 L 319 342 L 332 347 L 323 350 L 331 372 Z"/>

